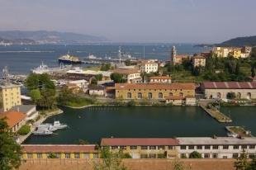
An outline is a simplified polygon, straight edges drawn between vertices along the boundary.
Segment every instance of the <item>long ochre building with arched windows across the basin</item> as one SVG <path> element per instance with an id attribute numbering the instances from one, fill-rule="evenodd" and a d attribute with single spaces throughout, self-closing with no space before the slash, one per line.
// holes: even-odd
<path id="1" fill-rule="evenodd" d="M 195 97 L 194 83 L 116 83 L 117 99 L 148 99 L 148 100 L 164 100 L 164 97 Z"/>

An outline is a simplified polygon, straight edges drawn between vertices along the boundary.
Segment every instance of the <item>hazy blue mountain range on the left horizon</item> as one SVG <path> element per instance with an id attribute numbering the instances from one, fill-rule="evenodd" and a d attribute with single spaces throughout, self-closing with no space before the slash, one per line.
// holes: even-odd
<path id="1" fill-rule="evenodd" d="M 0 31 L 0 44 L 84 44 L 107 42 L 106 37 L 58 31 Z"/>

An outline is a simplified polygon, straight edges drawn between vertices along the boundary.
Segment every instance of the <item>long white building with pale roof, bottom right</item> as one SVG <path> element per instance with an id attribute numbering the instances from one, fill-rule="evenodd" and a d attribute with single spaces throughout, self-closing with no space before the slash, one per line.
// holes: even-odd
<path id="1" fill-rule="evenodd" d="M 201 153 L 202 158 L 238 158 L 243 149 L 252 158 L 255 153 L 256 138 L 238 139 L 233 137 L 188 137 L 177 138 L 178 157 L 189 158 L 193 151 Z"/>

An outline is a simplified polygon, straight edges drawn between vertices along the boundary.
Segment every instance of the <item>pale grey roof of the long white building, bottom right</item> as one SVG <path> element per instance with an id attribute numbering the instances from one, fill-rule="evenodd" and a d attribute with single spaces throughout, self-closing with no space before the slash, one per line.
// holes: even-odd
<path id="1" fill-rule="evenodd" d="M 198 145 L 198 144 L 256 144 L 256 137 L 238 139 L 233 137 L 184 137 L 177 138 L 181 145 Z"/>

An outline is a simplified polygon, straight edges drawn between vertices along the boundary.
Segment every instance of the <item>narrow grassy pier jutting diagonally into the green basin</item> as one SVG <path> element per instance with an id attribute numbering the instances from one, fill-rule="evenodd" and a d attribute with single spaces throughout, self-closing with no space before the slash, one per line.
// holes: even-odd
<path id="1" fill-rule="evenodd" d="M 225 114 L 218 111 L 216 108 L 211 107 L 207 108 L 207 106 L 199 105 L 206 113 L 208 113 L 211 117 L 219 121 L 220 123 L 230 123 L 232 120 L 229 116 L 225 116 Z"/>

